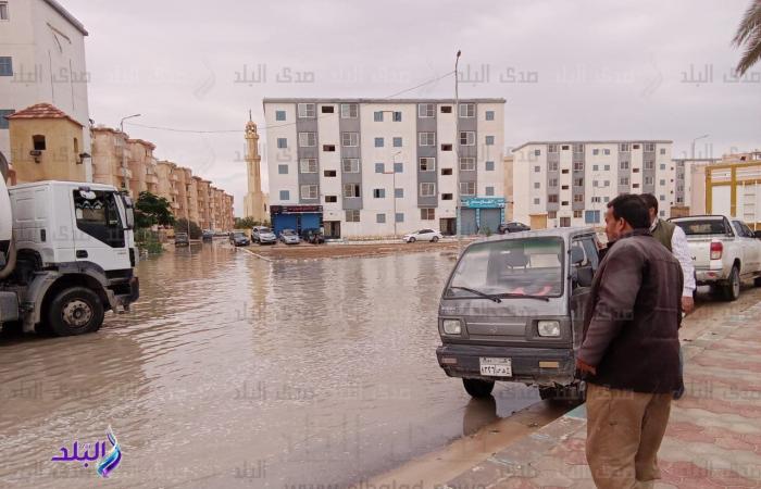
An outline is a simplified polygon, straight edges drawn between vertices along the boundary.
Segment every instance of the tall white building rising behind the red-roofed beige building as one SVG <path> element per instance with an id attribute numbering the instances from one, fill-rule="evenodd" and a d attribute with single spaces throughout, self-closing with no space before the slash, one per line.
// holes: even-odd
<path id="1" fill-rule="evenodd" d="M 0 152 L 13 149 L 5 115 L 40 102 L 51 103 L 90 134 L 85 65 L 87 30 L 55 0 L 0 0 Z M 91 179 L 90 159 L 85 159 Z"/>

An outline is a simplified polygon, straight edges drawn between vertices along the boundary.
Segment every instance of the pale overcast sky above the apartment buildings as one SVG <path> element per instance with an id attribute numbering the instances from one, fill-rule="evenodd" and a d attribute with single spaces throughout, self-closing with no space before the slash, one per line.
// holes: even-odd
<path id="1" fill-rule="evenodd" d="M 451 72 L 458 49 L 461 97 L 507 99 L 508 148 L 672 139 L 688 156 L 704 134 L 700 155 L 761 148 L 761 64 L 740 82 L 731 72 L 750 0 L 60 1 L 90 33 L 96 123 L 141 113 L 135 124 L 239 130 L 125 124 L 157 158 L 233 193 L 236 215 L 242 129 L 249 109 L 264 125 L 262 98 L 387 97 Z M 266 77 L 254 80 L 260 66 Z M 251 83 L 237 83 L 244 70 Z M 313 82 L 294 83 L 297 72 Z M 400 97 L 451 98 L 453 78 Z"/>

